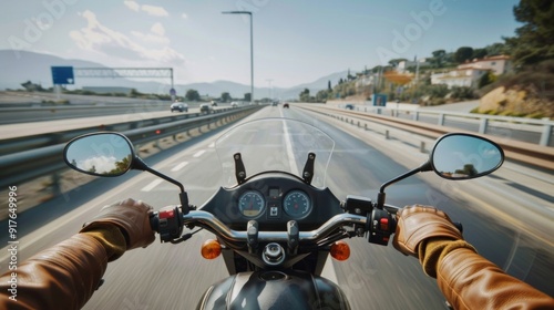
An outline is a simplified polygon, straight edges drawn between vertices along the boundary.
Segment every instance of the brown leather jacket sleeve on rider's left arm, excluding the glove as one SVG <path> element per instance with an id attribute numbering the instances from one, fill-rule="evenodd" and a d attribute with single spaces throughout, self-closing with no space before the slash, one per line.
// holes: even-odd
<path id="1" fill-rule="evenodd" d="M 98 289 L 107 261 L 124 249 L 115 227 L 76 234 L 2 275 L 0 309 L 81 309 Z M 17 291 L 10 291 L 13 279 Z"/>

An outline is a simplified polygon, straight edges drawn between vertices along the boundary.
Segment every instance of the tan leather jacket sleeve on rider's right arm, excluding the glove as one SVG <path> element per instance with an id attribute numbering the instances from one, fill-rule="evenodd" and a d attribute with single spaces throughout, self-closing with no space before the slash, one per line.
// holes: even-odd
<path id="1" fill-rule="evenodd" d="M 454 309 L 554 309 L 552 297 L 509 276 L 464 244 L 431 240 L 420 257 L 428 275 L 433 277 L 429 271 L 434 269 L 439 288 Z"/>

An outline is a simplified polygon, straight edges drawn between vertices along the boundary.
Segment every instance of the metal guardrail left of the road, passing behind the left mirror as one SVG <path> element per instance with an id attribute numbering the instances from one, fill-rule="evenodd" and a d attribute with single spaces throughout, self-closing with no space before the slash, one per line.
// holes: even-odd
<path id="1" fill-rule="evenodd" d="M 53 134 L 44 134 L 35 140 L 33 137 L 28 141 L 24 138 L 12 141 L 11 149 L 20 149 L 20 152 L 10 153 L 0 156 L 0 188 L 13 184 L 20 184 L 41 176 L 53 174 L 57 177 L 57 172 L 66 168 L 62 158 L 62 151 L 65 143 L 71 138 L 81 134 L 98 132 L 98 131 L 115 131 L 125 134 L 133 144 L 145 144 L 168 136 L 175 136 L 179 133 L 187 132 L 204 125 L 211 125 L 224 118 L 234 118 L 252 114 L 261 106 L 247 106 L 240 108 L 229 108 L 226 111 L 219 110 L 218 113 L 207 114 L 197 117 L 185 117 L 179 121 L 171 121 L 171 116 L 164 117 L 167 120 L 153 121 L 145 120 L 140 122 L 120 123 L 99 127 L 80 128 L 69 132 L 60 132 Z M 183 115 L 184 116 L 184 115 Z M 148 124 L 150 121 L 150 124 Z M 4 142 L 2 141 L 2 148 Z M 38 147 L 24 149 L 24 147 Z M 24 149 L 24 151 L 21 151 Z M 55 182 L 55 179 L 54 179 Z M 54 190 L 55 192 L 55 190 Z"/>

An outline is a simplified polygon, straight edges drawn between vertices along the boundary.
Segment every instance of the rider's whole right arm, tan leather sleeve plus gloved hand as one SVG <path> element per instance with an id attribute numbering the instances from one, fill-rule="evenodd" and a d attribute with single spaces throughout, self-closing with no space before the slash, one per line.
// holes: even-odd
<path id="1" fill-rule="evenodd" d="M 454 309 L 554 309 L 554 299 L 476 254 L 444 213 L 407 207 L 397 214 L 393 246 L 419 258 Z"/>

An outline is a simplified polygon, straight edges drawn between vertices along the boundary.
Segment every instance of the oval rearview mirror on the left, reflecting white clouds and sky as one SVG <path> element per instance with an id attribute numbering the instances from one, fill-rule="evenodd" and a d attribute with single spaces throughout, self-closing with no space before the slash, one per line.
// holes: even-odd
<path id="1" fill-rule="evenodd" d="M 94 176 L 120 176 L 133 164 L 131 142 L 117 133 L 94 133 L 65 145 L 63 158 L 73 169 Z"/>

